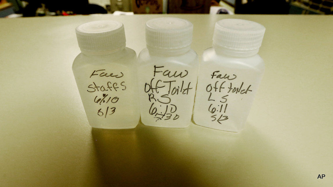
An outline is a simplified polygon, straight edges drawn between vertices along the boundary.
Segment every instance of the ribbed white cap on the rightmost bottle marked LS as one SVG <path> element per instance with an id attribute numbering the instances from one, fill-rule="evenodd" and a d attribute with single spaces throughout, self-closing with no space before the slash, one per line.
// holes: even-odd
<path id="1" fill-rule="evenodd" d="M 213 45 L 233 50 L 259 51 L 265 27 L 241 19 L 223 19 L 215 24 Z"/>

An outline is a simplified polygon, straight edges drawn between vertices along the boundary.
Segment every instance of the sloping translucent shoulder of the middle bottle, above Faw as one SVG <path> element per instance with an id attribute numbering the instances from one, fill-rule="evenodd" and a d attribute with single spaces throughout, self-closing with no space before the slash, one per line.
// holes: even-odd
<path id="1" fill-rule="evenodd" d="M 180 55 L 162 55 L 150 52 L 147 48 L 143 49 L 138 56 L 138 64 L 151 63 L 175 63 L 193 64 L 198 63 L 198 55 L 192 49 Z"/>

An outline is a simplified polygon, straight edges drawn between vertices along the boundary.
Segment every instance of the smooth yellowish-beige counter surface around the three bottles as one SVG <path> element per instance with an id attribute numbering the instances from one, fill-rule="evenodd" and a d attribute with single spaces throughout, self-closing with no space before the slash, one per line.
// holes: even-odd
<path id="1" fill-rule="evenodd" d="M 193 23 L 199 56 L 220 19 L 266 27 L 266 70 L 242 131 L 89 125 L 72 73 L 75 28 L 121 21 L 139 54 L 145 23 L 163 16 Z M 333 186 L 332 23 L 309 15 L 0 19 L 0 186 Z"/>

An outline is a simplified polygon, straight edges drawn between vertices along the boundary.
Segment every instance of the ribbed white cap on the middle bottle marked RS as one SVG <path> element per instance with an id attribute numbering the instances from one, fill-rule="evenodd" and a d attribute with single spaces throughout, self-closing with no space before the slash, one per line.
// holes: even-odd
<path id="1" fill-rule="evenodd" d="M 180 49 L 190 47 L 193 24 L 179 18 L 156 18 L 146 23 L 147 47 Z"/>

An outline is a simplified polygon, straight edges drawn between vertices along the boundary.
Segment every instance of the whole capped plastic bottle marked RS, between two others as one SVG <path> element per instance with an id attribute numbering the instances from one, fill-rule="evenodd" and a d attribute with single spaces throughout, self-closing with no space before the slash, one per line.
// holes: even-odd
<path id="1" fill-rule="evenodd" d="M 147 22 L 147 48 L 138 56 L 143 124 L 170 128 L 190 124 L 198 71 L 197 54 L 190 49 L 192 32 L 192 23 L 184 19 Z"/>

